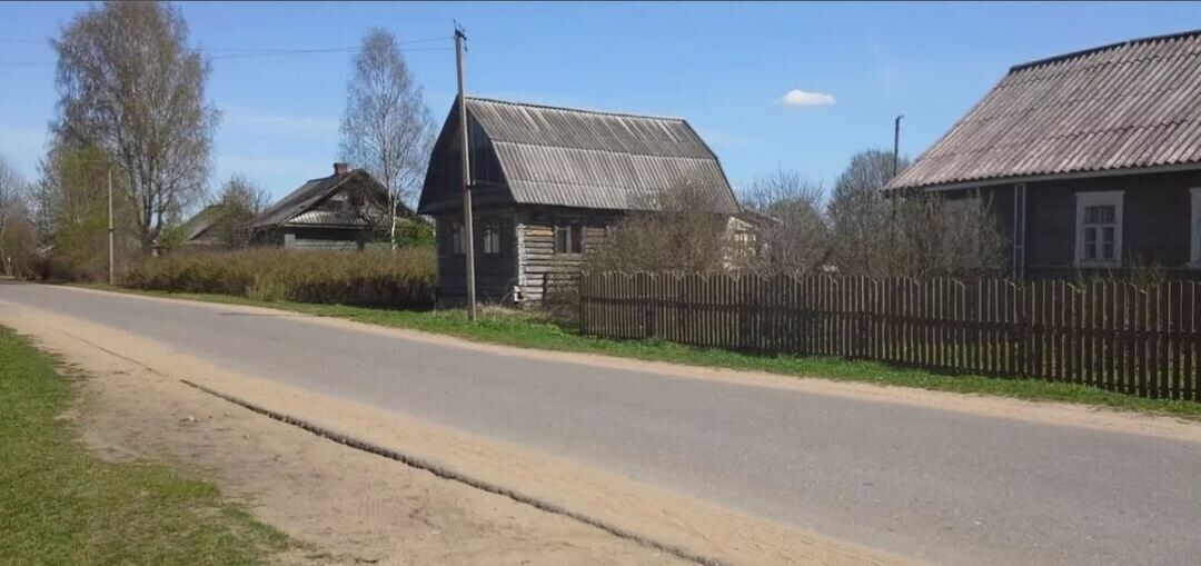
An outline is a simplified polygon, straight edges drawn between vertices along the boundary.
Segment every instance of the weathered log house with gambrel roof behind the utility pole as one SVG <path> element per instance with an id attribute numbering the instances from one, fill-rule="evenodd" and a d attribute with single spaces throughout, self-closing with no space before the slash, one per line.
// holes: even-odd
<path id="1" fill-rule="evenodd" d="M 741 211 L 717 156 L 679 118 L 467 97 L 477 294 L 539 299 L 551 274 L 578 273 L 607 228 L 698 183 L 715 214 Z M 419 214 L 436 221 L 443 299 L 466 291 L 458 102 L 442 126 Z"/>

